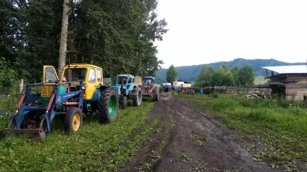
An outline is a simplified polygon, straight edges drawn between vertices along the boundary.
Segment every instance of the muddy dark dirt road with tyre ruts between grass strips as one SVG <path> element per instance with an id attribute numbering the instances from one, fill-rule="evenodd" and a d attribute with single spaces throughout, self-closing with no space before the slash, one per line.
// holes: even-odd
<path id="1" fill-rule="evenodd" d="M 147 119 L 159 119 L 157 129 L 120 171 L 282 171 L 254 163 L 247 142 L 233 139 L 217 118 L 178 97 L 165 99 Z"/>

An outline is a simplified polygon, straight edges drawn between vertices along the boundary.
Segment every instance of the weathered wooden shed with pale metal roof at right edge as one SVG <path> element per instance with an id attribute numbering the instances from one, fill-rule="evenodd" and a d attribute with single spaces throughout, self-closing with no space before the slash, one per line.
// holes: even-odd
<path id="1" fill-rule="evenodd" d="M 307 66 L 268 66 L 265 79 L 270 79 L 270 84 L 250 86 L 255 88 L 272 88 L 272 94 L 284 94 L 286 99 L 303 100 L 307 95 Z"/>

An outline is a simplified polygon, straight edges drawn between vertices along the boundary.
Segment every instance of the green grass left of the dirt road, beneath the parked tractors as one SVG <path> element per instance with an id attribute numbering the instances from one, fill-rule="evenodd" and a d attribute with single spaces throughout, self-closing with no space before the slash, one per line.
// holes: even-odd
<path id="1" fill-rule="evenodd" d="M 115 171 L 157 124 L 154 121 L 130 136 L 144 123 L 153 104 L 143 101 L 140 107 L 120 110 L 117 121 L 107 125 L 100 125 L 97 116 L 84 117 L 76 135 L 65 135 L 62 125 L 53 122 L 53 132 L 42 143 L 31 142 L 28 135 L 2 139 L 0 171 Z"/>

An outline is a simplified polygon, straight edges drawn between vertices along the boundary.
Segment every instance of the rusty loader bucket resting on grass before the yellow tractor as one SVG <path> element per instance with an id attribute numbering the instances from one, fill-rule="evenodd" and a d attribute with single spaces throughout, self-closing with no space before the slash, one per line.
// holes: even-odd
<path id="1" fill-rule="evenodd" d="M 45 132 L 42 128 L 40 129 L 9 129 L 6 128 L 3 130 L 4 133 L 8 135 L 16 135 L 16 134 L 32 134 L 32 140 L 34 141 L 44 141 L 46 139 Z"/>

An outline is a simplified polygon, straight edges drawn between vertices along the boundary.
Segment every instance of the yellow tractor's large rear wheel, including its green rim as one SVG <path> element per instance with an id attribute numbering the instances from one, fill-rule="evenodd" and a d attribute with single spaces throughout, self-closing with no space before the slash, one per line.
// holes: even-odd
<path id="1" fill-rule="evenodd" d="M 118 96 L 114 89 L 103 90 L 99 98 L 99 123 L 114 122 L 118 116 Z"/>

